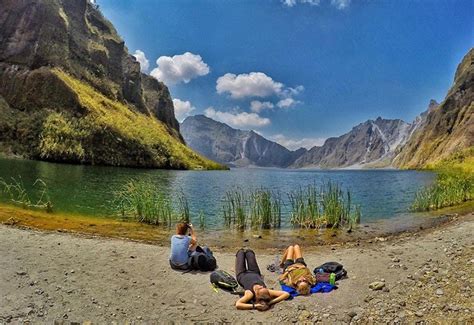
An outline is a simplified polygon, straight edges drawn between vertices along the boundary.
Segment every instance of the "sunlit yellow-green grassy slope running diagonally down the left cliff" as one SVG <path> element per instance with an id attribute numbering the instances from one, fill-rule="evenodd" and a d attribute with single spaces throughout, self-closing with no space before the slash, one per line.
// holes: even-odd
<path id="1" fill-rule="evenodd" d="M 124 141 L 136 142 L 148 151 L 157 167 L 186 169 L 223 169 L 213 161 L 201 157 L 174 138 L 167 127 L 154 117 L 130 110 L 128 106 L 113 101 L 94 88 L 55 69 L 56 74 L 78 96 L 88 110 L 87 124 L 92 129 L 110 129 Z"/>

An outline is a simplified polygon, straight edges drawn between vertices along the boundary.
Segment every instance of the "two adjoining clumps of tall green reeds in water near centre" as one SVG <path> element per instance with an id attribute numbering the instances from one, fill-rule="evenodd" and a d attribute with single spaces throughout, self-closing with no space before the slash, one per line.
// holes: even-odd
<path id="1" fill-rule="evenodd" d="M 305 228 L 352 227 L 360 223 L 361 210 L 353 205 L 351 193 L 337 183 L 315 184 L 288 193 L 290 223 Z M 223 219 L 227 227 L 280 228 L 281 195 L 265 188 L 245 193 L 242 189 L 228 191 L 224 197 Z"/>

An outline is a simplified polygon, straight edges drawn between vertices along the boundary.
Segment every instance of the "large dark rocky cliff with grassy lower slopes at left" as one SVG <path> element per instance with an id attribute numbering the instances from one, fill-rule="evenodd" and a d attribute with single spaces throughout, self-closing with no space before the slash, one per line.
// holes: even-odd
<path id="1" fill-rule="evenodd" d="M 88 0 L 0 0 L 0 96 L 0 149 L 76 163 L 214 165 L 184 146 L 167 87 L 140 72 Z M 80 150 L 60 149 L 64 137 Z"/>

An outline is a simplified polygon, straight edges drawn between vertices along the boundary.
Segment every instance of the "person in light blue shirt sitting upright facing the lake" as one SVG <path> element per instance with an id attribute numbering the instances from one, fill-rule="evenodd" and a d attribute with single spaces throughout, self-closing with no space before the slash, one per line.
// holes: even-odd
<path id="1" fill-rule="evenodd" d="M 186 233 L 189 230 L 189 235 Z M 176 235 L 171 236 L 170 266 L 174 270 L 188 270 L 189 257 L 196 251 L 197 238 L 193 225 L 178 223 Z"/>

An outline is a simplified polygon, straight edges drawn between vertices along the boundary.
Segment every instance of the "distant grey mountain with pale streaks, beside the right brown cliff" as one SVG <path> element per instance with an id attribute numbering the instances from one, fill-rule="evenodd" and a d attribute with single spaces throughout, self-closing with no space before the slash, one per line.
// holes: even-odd
<path id="1" fill-rule="evenodd" d="M 402 120 L 368 120 L 340 137 L 327 139 L 321 147 L 311 148 L 291 167 L 387 167 L 396 149 L 407 141 L 410 128 Z"/>

